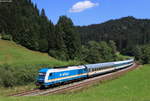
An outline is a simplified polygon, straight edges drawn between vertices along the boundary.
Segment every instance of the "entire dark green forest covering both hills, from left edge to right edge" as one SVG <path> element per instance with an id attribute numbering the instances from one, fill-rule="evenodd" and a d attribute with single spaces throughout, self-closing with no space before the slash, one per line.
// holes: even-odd
<path id="1" fill-rule="evenodd" d="M 28 49 L 45 52 L 60 60 L 80 60 L 88 63 L 116 60 L 116 52 L 139 58 L 137 47 L 149 47 L 150 20 L 132 16 L 102 24 L 75 26 L 67 16 L 53 24 L 31 0 L 0 3 L 0 33 L 2 39 L 12 40 Z M 145 46 L 143 46 L 145 45 Z M 141 49 L 141 50 L 142 50 Z M 141 56 L 141 55 L 140 55 Z M 148 58 L 149 59 L 149 58 Z"/>

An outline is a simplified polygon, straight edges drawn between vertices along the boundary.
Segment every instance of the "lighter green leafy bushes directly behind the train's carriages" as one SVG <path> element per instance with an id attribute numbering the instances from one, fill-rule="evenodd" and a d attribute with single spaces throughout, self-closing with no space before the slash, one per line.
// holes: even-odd
<path id="1" fill-rule="evenodd" d="M 113 45 L 113 47 L 112 47 Z M 81 50 L 81 59 L 88 63 L 108 62 L 116 59 L 115 43 L 107 44 L 106 42 L 88 42 Z"/>

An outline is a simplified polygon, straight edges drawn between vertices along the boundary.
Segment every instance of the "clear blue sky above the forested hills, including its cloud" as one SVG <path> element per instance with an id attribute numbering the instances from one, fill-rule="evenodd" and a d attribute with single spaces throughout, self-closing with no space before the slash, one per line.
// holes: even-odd
<path id="1" fill-rule="evenodd" d="M 90 25 L 126 16 L 150 18 L 150 0 L 32 0 L 54 24 L 59 16 L 70 17 L 75 25 Z"/>

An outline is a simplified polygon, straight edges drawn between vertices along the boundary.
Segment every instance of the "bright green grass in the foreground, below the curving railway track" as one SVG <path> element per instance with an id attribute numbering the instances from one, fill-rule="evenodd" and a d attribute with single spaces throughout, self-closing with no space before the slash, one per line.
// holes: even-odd
<path id="1" fill-rule="evenodd" d="M 150 65 L 118 79 L 78 92 L 35 97 L 0 97 L 0 101 L 150 101 Z"/>

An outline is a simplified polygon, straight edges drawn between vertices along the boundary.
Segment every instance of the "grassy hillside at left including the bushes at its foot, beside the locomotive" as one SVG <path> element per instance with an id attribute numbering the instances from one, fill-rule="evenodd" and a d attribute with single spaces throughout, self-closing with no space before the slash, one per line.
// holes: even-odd
<path id="1" fill-rule="evenodd" d="M 34 84 L 38 70 L 43 67 L 78 64 L 77 61 L 59 61 L 46 53 L 31 51 L 12 41 L 0 40 L 0 89 Z"/>

